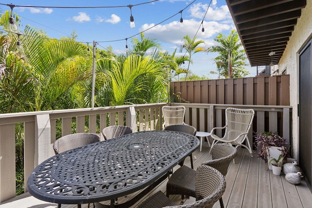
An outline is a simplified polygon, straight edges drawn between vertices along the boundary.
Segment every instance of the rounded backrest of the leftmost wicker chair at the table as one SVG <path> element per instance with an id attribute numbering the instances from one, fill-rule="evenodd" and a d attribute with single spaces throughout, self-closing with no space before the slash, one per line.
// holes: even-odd
<path id="1" fill-rule="evenodd" d="M 73 133 L 59 137 L 53 144 L 55 154 L 99 142 L 100 137 L 96 133 Z"/>

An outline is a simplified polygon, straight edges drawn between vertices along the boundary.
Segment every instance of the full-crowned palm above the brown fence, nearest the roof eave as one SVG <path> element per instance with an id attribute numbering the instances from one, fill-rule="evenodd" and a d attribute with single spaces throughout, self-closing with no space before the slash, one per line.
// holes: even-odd
<path id="1" fill-rule="evenodd" d="M 242 48 L 242 43 L 235 30 L 232 30 L 228 37 L 219 33 L 214 40 L 219 45 L 211 46 L 208 52 L 217 52 L 219 56 L 215 58 L 219 74 L 226 78 L 246 76 L 249 73 L 245 71 L 246 54 Z"/>

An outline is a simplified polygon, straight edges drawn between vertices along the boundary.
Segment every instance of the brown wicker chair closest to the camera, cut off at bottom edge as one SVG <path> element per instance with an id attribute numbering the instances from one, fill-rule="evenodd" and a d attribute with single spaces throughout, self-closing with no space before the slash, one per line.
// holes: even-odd
<path id="1" fill-rule="evenodd" d="M 226 183 L 225 177 L 218 170 L 202 165 L 198 167 L 195 176 L 196 202 L 174 206 L 161 191 L 149 197 L 138 208 L 212 208 L 223 195 Z"/>

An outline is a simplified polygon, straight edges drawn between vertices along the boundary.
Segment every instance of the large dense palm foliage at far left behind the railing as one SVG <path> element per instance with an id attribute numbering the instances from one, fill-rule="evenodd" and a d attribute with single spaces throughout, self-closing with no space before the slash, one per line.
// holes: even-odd
<path id="1" fill-rule="evenodd" d="M 7 22 L 8 11 L 0 20 L 5 30 L 9 30 Z M 81 43 L 50 39 L 28 25 L 22 35 L 8 33 L 2 40 L 1 47 L 5 50 L 1 50 L 1 64 L 5 66 L 5 76 L 1 80 L 0 98 L 6 113 L 55 109 L 59 99 L 66 98 L 65 93 L 89 78 L 87 71 L 91 64 Z M 15 110 L 9 108 L 10 103 Z"/>

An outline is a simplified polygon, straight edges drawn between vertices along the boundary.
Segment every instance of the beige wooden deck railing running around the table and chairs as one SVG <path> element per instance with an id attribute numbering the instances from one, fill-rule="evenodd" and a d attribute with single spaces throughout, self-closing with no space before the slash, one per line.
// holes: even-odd
<path id="1" fill-rule="evenodd" d="M 134 132 L 161 130 L 163 123 L 161 107 L 164 105 L 167 103 L 0 114 L 0 202 L 16 195 L 15 142 L 19 133 L 17 126 L 23 130 L 25 191 L 27 191 L 28 175 L 39 163 L 54 154 L 52 146 L 56 138 L 75 132 L 99 133 L 104 127 L 117 124 L 131 126 Z M 185 122 L 194 126 L 197 131 L 205 132 L 210 132 L 214 126 L 224 125 L 226 108 L 252 108 L 256 112 L 253 131 L 279 132 L 291 143 L 290 106 L 190 103 L 172 103 L 172 105 L 184 105 Z M 252 132 L 249 139 L 252 142 Z"/>

